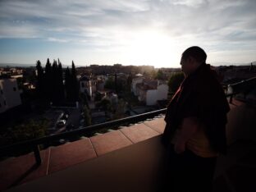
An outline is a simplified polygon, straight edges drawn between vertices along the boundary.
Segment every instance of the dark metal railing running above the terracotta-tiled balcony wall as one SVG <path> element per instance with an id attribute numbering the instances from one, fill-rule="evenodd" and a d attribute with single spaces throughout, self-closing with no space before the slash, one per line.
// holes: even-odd
<path id="1" fill-rule="evenodd" d="M 239 87 L 239 89 L 235 89 L 235 91 L 226 94 L 226 97 L 230 97 L 230 103 L 232 102 L 232 98 L 235 94 L 239 94 L 240 92 L 244 91 L 244 89 L 242 89 L 243 86 L 245 86 L 247 89 L 248 85 L 253 85 L 255 80 L 256 80 L 256 77 L 249 79 L 249 80 L 242 81 L 240 83 L 236 83 L 234 85 L 229 85 L 230 88 Z M 231 89 L 231 90 L 233 90 L 233 89 Z M 14 152 L 22 150 L 22 149 L 31 149 L 34 151 L 34 158 L 35 158 L 36 164 L 39 166 L 42 162 L 40 153 L 39 153 L 39 144 L 47 144 L 47 143 L 53 142 L 54 140 L 57 140 L 57 139 L 70 139 L 71 137 L 77 136 L 77 135 L 92 135 L 92 133 L 94 133 L 98 130 L 102 130 L 104 128 L 109 128 L 109 127 L 113 127 L 113 126 L 121 126 L 124 123 L 144 121 L 147 118 L 156 117 L 159 114 L 165 113 L 166 110 L 167 110 L 167 108 L 164 108 L 164 109 L 160 109 L 160 110 L 153 111 L 153 112 L 146 112 L 143 114 L 139 114 L 139 115 L 136 115 L 133 117 L 126 117 L 126 118 L 122 118 L 122 119 L 115 120 L 115 121 L 108 121 L 108 122 L 104 122 L 104 123 L 93 125 L 93 126 L 87 126 L 87 127 L 77 129 L 77 130 L 71 130 L 71 131 L 65 132 L 65 133 L 59 133 L 57 135 L 45 136 L 45 137 L 38 138 L 38 139 L 26 140 L 26 141 L 23 141 L 23 142 L 17 143 L 17 144 L 2 146 L 0 148 L 0 153 L 2 155 L 4 155 L 7 153 L 14 153 Z"/>

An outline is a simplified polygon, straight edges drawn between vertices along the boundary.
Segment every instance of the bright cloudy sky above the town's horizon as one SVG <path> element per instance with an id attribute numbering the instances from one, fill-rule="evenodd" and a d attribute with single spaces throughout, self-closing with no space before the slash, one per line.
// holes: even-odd
<path id="1" fill-rule="evenodd" d="M 0 63 L 179 67 L 256 61 L 255 0 L 0 0 Z"/>

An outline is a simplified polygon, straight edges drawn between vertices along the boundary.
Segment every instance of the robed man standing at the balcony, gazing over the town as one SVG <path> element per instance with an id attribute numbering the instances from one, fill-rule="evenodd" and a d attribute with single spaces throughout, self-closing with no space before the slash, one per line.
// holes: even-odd
<path id="1" fill-rule="evenodd" d="M 226 153 L 229 105 L 206 58 L 199 47 L 182 53 L 185 80 L 167 107 L 162 135 L 168 153 L 164 188 L 169 191 L 210 191 L 216 158 Z"/>

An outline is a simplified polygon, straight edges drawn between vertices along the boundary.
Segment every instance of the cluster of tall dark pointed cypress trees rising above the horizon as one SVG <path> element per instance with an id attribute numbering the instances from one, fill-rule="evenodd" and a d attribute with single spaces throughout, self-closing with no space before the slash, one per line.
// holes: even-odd
<path id="1" fill-rule="evenodd" d="M 36 63 L 38 98 L 48 103 L 75 102 L 79 99 L 79 85 L 76 78 L 75 64 L 72 61 L 71 71 L 66 68 L 65 85 L 63 82 L 62 62 L 53 60 L 53 65 L 47 59 L 44 71 L 40 61 Z"/>

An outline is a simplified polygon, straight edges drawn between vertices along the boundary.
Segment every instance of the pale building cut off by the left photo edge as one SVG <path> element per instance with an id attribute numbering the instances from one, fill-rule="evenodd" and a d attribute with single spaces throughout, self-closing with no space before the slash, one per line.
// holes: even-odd
<path id="1" fill-rule="evenodd" d="M 0 113 L 21 105 L 21 94 L 16 79 L 0 79 Z"/>

